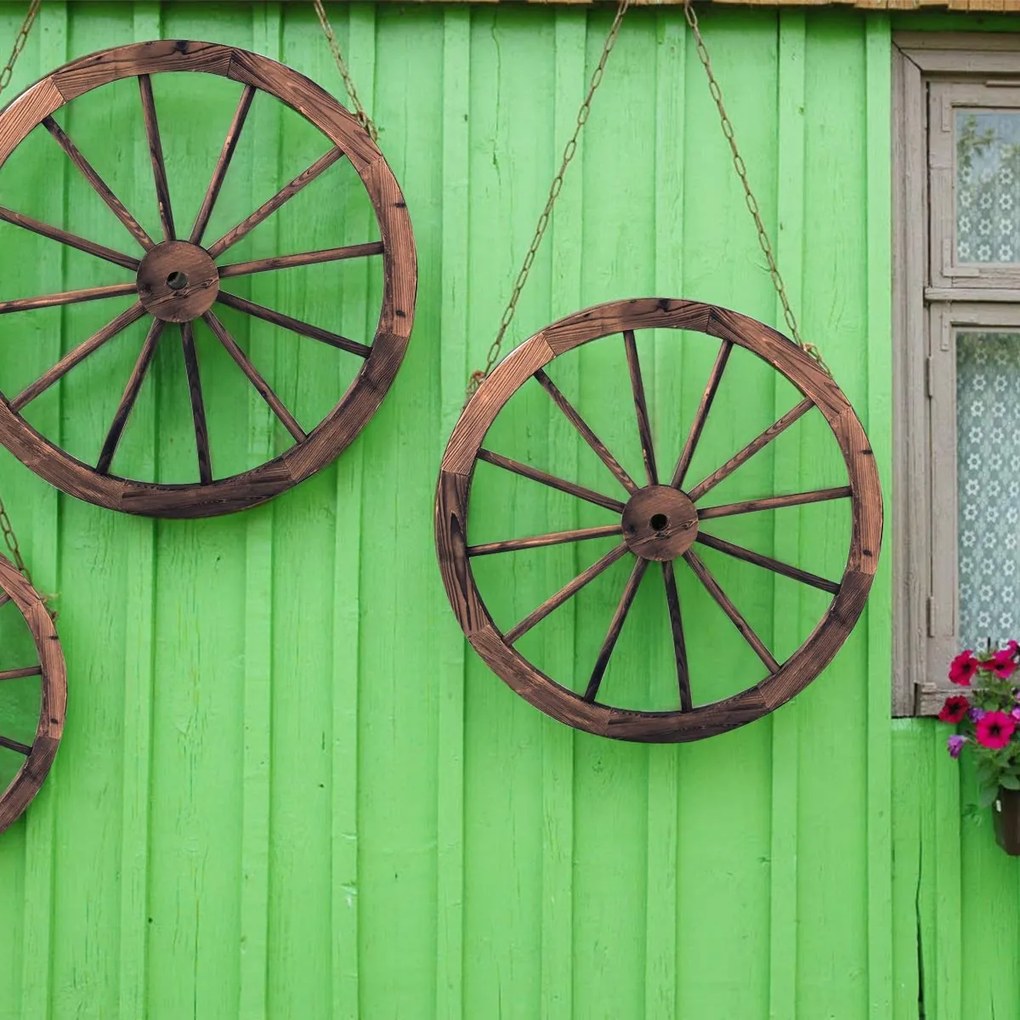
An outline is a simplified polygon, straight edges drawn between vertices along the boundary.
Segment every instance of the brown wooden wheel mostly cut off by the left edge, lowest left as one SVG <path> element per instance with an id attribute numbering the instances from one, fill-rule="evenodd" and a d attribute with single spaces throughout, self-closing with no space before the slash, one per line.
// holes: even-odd
<path id="1" fill-rule="evenodd" d="M 39 723 L 31 744 L 4 732 L 0 718 L 0 748 L 23 756 L 24 762 L 5 790 L 0 793 L 0 832 L 15 821 L 39 793 L 60 744 L 64 710 L 67 705 L 67 676 L 63 653 L 46 604 L 36 590 L 7 559 L 0 556 L 0 607 L 13 602 L 24 618 L 35 643 L 38 663 L 23 663 L 12 669 L 0 669 L 0 683 L 31 682 L 39 677 Z M 10 612 L 10 610 L 7 610 Z"/>

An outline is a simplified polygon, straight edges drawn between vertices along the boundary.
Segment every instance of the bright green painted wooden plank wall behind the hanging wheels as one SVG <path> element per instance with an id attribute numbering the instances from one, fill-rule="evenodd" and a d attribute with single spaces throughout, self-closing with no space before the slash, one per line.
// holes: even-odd
<path id="1" fill-rule="evenodd" d="M 20 3 L 0 3 L 0 39 L 21 14 Z M 890 719 L 891 536 L 868 610 L 822 678 L 771 718 L 700 744 L 574 733 L 465 649 L 435 561 L 438 465 L 611 12 L 357 3 L 333 14 L 416 232 L 409 354 L 339 464 L 235 516 L 114 515 L 0 455 L 38 586 L 56 596 L 70 691 L 51 778 L 0 837 L 0 1018 L 1020 1016 L 1017 865 L 968 810 L 971 777 L 947 758 L 946 731 Z M 703 15 L 804 332 L 869 428 L 886 498 L 891 32 L 1020 28 L 964 21 Z M 160 36 L 251 48 L 341 91 L 310 4 L 59 0 L 45 4 L 14 88 L 72 56 Z M 155 230 L 133 102 L 118 93 L 93 119 L 72 116 L 71 130 Z M 178 129 L 171 191 L 195 207 L 236 91 L 202 98 L 186 83 L 157 90 L 157 102 Z M 224 192 L 225 225 L 321 151 L 269 106 L 251 129 Z M 62 159 L 48 139 L 12 157 L 0 201 L 111 243 L 118 224 Z M 326 247 L 338 232 L 368 240 L 370 230 L 363 203 L 313 186 L 252 250 Z M 340 309 L 364 336 L 378 290 L 370 267 L 289 272 L 240 293 L 327 326 Z M 0 232 L 5 298 L 119 278 Z M 781 321 L 675 8 L 628 15 L 513 333 L 649 294 Z M 93 306 L 5 319 L 4 392 L 96 321 Z M 311 342 L 237 328 L 306 413 L 335 399 L 345 369 Z M 625 448 L 622 362 L 596 347 L 557 378 Z M 671 350 L 663 342 L 646 360 L 666 437 L 712 354 L 684 355 L 674 370 Z M 132 355 L 117 357 L 41 402 L 39 426 L 83 451 L 100 442 Z M 164 478 L 190 469 L 174 364 L 157 364 L 121 466 Z M 237 468 L 280 437 L 228 367 L 210 369 L 206 386 L 216 390 L 214 456 Z M 729 456 L 789 406 L 753 364 L 733 381 L 736 410 L 720 414 L 706 457 Z M 511 409 L 501 449 L 577 466 L 569 426 L 539 398 Z M 746 483 L 817 481 L 824 451 L 823 437 L 805 432 L 762 455 Z M 483 480 L 498 479 L 479 473 L 479 529 L 492 529 L 482 538 L 564 519 L 536 487 L 500 495 Z M 747 541 L 831 564 L 839 511 L 810 510 L 749 525 Z M 530 608 L 592 559 L 558 549 L 520 560 L 494 611 L 512 615 L 515 599 Z M 817 619 L 808 596 L 718 568 L 779 645 Z M 561 673 L 591 661 L 621 583 L 564 610 L 534 654 Z M 694 590 L 683 591 L 687 605 Z M 636 608 L 652 614 L 645 596 Z M 721 692 L 746 650 L 720 617 L 696 620 L 702 690 Z M 628 676 L 640 677 L 629 694 L 660 697 L 653 681 L 668 675 L 669 653 L 657 626 L 628 631 L 613 674 L 621 697 Z"/>

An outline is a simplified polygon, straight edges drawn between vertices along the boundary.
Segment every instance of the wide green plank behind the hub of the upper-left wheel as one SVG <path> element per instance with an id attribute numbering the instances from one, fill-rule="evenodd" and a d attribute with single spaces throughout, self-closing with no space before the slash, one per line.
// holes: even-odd
<path id="1" fill-rule="evenodd" d="M 252 46 L 250 9 L 167 4 L 162 15 L 160 36 Z M 222 80 L 167 74 L 154 75 L 153 92 L 180 225 L 198 211 L 241 89 Z M 201 118 L 194 116 L 198 92 L 203 96 Z M 268 134 L 268 138 L 249 136 L 247 144 L 242 137 L 214 222 L 217 216 L 247 214 L 252 191 L 273 183 L 276 140 L 271 128 Z M 256 139 L 258 144 L 252 145 Z M 139 143 L 144 146 L 144 138 Z M 143 148 L 140 157 L 144 152 Z M 137 159 L 137 165 L 141 172 L 145 163 Z M 150 223 L 151 180 L 150 172 L 139 186 L 146 189 L 148 201 L 142 211 Z M 180 335 L 167 330 L 165 336 L 170 343 L 161 350 L 165 358 L 158 365 L 158 476 L 196 478 Z M 237 339 L 248 348 L 247 328 L 238 329 Z M 213 357 L 215 342 L 204 323 L 196 325 L 195 342 L 213 471 L 227 473 L 227 464 L 245 463 L 253 451 L 262 449 L 259 418 L 250 410 L 259 401 L 240 381 L 234 386 L 233 363 Z M 224 394 L 233 399 L 224 399 Z M 174 436 L 174 422 L 186 416 L 188 429 Z M 257 659 L 251 661 L 263 647 L 257 634 L 251 644 L 259 619 L 249 621 L 247 613 L 265 583 L 266 567 L 256 556 L 251 578 L 247 571 L 249 553 L 258 541 L 251 515 L 272 512 L 263 507 L 250 511 L 250 516 L 156 523 L 151 920 L 145 1004 L 153 1020 L 238 1015 L 242 973 L 261 950 L 252 915 L 259 909 L 255 847 L 263 780 L 257 748 L 267 737 L 257 727 L 263 725 L 258 698 L 265 674 L 260 673 Z M 256 528 L 254 537 L 249 527 Z M 258 972 L 264 973 L 264 967 L 255 964 L 253 970 L 262 980 Z M 252 988 L 253 970 L 246 974 L 245 993 L 257 1010 L 260 991 Z"/>

